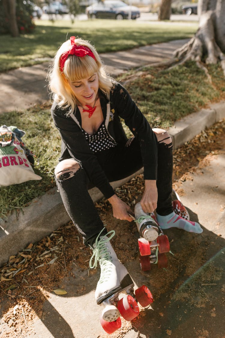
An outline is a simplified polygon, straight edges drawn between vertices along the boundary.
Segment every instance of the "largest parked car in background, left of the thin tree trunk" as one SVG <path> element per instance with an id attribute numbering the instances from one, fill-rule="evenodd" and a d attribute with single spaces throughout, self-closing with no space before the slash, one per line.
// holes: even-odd
<path id="1" fill-rule="evenodd" d="M 131 19 L 140 17 L 140 10 L 136 6 L 129 6 L 119 0 L 105 0 L 98 2 L 86 8 L 88 18 L 92 19 L 128 19 L 131 13 Z"/>

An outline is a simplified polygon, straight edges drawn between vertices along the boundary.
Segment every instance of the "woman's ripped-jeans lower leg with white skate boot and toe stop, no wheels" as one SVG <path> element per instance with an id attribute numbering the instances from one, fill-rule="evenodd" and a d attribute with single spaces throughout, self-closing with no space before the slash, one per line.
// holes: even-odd
<path id="1" fill-rule="evenodd" d="M 133 281 L 110 244 L 115 232 L 112 230 L 107 234 L 88 193 L 84 169 L 75 160 L 67 159 L 57 165 L 55 176 L 66 211 L 82 234 L 84 244 L 90 245 L 93 250 L 90 267 L 96 268 L 97 262 L 100 263 L 101 275 L 95 299 L 97 304 L 101 304 L 111 294 L 129 287 Z M 119 315 L 115 306 L 105 307 L 102 313 L 103 319 L 107 321 L 114 321 Z"/>

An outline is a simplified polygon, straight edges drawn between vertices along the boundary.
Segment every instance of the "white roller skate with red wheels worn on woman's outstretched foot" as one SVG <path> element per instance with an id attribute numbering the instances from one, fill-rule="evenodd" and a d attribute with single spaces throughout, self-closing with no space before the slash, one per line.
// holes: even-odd
<path id="1" fill-rule="evenodd" d="M 102 230 L 103 231 L 103 230 Z M 101 232 L 102 233 L 102 232 Z M 139 288 L 137 295 L 134 293 L 134 283 L 126 270 L 119 262 L 113 250 L 110 239 L 115 235 L 112 230 L 107 235 L 96 238 L 93 245 L 93 255 L 90 259 L 90 268 L 96 268 L 97 262 L 101 267 L 99 282 L 96 286 L 95 299 L 104 309 L 100 316 L 100 322 L 107 333 L 113 333 L 121 326 L 120 315 L 126 320 L 132 320 L 139 314 L 136 300 L 140 304 L 149 305 L 152 303 L 152 296 L 147 287 Z M 92 260 L 94 263 L 92 264 Z M 122 298 L 119 295 L 125 294 Z M 142 305 L 142 306 L 146 306 Z"/>

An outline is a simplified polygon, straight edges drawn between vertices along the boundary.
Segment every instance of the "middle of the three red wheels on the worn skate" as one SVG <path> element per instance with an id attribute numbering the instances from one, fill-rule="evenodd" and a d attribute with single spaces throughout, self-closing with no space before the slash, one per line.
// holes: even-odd
<path id="1" fill-rule="evenodd" d="M 131 295 L 125 295 L 120 299 L 117 308 L 125 320 L 132 320 L 139 315 L 139 307 Z"/>

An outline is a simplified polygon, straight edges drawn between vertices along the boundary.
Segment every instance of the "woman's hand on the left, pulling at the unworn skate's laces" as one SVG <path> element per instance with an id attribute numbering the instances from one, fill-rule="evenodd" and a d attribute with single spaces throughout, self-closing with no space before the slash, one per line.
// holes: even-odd
<path id="1" fill-rule="evenodd" d="M 131 208 L 123 202 L 119 197 L 113 195 L 112 197 L 108 198 L 108 201 L 112 204 L 113 208 L 113 216 L 118 219 L 123 219 L 126 221 L 131 222 L 132 218 L 129 214 L 134 215 Z"/>

